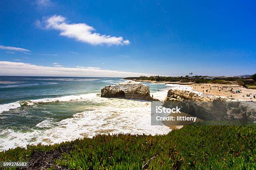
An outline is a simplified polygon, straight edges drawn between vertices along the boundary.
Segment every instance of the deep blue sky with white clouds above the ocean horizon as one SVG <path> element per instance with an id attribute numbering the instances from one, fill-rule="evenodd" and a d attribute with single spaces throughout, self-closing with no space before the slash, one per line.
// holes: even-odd
<path id="1" fill-rule="evenodd" d="M 255 6 L 255 1 L 1 0 L 0 75 L 253 74 Z"/>

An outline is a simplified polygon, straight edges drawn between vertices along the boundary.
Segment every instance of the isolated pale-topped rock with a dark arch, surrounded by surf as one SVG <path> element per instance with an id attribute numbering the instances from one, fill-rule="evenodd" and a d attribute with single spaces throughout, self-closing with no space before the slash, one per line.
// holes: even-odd
<path id="1" fill-rule="evenodd" d="M 101 89 L 101 97 L 124 97 L 127 99 L 152 101 L 149 86 L 141 82 L 128 81 L 118 85 L 107 85 Z"/>

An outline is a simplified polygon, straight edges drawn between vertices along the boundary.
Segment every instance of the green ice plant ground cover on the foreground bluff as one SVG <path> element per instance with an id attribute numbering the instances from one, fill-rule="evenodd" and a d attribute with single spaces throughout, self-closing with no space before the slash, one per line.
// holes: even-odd
<path id="1" fill-rule="evenodd" d="M 53 146 L 0 153 L 3 160 L 30 160 L 40 151 L 72 145 L 57 165 L 70 169 L 255 169 L 256 127 L 184 126 L 167 135 L 97 135 Z"/>

